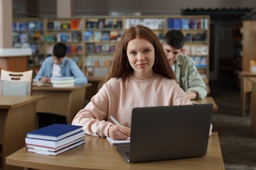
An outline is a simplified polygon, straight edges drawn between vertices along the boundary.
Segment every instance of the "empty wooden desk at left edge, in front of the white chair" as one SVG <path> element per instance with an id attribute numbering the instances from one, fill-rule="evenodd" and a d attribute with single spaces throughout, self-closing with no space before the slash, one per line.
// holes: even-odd
<path id="1" fill-rule="evenodd" d="M 28 131 L 35 129 L 37 101 L 45 95 L 0 95 L 0 144 L 3 169 L 11 169 L 5 158 L 24 147 Z"/>

